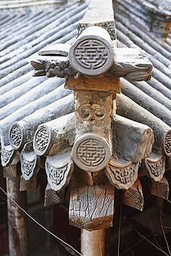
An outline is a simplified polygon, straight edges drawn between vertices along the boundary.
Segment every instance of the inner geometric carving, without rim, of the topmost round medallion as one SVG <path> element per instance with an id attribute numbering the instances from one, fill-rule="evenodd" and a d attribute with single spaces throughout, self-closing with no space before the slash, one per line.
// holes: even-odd
<path id="1" fill-rule="evenodd" d="M 109 52 L 101 41 L 87 39 L 78 44 L 75 48 L 74 55 L 81 67 L 88 70 L 95 70 L 107 63 Z"/>

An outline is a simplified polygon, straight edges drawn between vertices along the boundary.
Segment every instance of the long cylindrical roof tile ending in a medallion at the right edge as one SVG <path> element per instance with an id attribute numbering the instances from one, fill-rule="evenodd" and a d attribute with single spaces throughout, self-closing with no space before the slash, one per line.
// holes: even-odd
<path id="1" fill-rule="evenodd" d="M 122 94 L 117 95 L 117 114 L 151 127 L 154 132 L 154 145 L 152 151 L 158 154 L 165 153 L 164 142 L 167 141 L 167 137 L 169 137 L 170 127 L 165 124 L 164 121 L 160 120 L 140 105 L 134 103 L 129 97 Z M 167 148 L 167 155 L 170 156 L 169 144 Z"/>

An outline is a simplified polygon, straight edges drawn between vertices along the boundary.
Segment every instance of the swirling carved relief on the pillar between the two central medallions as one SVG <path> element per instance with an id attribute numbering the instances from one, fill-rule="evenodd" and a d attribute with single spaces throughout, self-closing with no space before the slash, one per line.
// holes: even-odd
<path id="1" fill-rule="evenodd" d="M 91 104 L 83 104 L 78 108 L 80 116 L 88 121 L 94 121 L 96 119 L 104 119 L 106 115 L 106 109 L 104 105 L 93 103 Z"/>

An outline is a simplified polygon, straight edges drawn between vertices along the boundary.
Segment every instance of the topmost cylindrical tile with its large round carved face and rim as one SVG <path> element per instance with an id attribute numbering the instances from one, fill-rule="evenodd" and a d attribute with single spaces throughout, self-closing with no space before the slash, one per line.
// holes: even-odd
<path id="1" fill-rule="evenodd" d="M 69 59 L 72 68 L 85 75 L 106 72 L 114 62 L 109 33 L 98 26 L 86 28 L 70 47 Z"/>

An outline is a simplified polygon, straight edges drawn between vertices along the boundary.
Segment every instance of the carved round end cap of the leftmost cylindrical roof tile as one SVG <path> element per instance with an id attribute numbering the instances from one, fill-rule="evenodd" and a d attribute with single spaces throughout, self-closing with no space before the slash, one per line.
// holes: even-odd
<path id="1" fill-rule="evenodd" d="M 9 130 L 9 140 L 12 148 L 19 149 L 22 145 L 23 135 L 22 129 L 19 124 L 12 124 Z"/>

